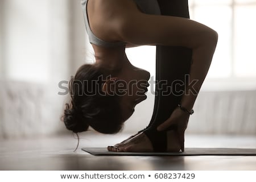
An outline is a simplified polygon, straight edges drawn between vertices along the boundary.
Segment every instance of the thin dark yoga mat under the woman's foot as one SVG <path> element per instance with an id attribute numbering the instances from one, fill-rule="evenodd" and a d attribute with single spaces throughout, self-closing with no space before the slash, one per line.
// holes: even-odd
<path id="1" fill-rule="evenodd" d="M 109 152 L 106 148 L 82 148 L 92 155 L 130 155 L 130 156 L 191 156 L 191 155 L 256 155 L 256 148 L 185 148 L 185 152 Z"/>

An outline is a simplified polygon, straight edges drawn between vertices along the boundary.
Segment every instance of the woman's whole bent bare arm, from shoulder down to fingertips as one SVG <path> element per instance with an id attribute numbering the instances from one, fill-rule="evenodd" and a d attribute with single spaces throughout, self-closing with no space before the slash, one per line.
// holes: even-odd
<path id="1" fill-rule="evenodd" d="M 187 94 L 184 94 L 181 100 L 181 105 L 191 110 L 208 73 L 217 44 L 217 32 L 201 23 L 185 18 L 144 14 L 137 15 L 135 20 L 126 19 L 120 32 L 122 40 L 133 44 L 160 44 L 192 49 L 189 80 L 197 82 L 193 88 L 186 88 Z M 189 92 L 190 89 L 195 92 Z M 176 125 L 182 151 L 184 151 L 184 132 L 187 129 L 188 119 L 189 115 L 177 107 L 170 118 L 158 127 L 158 130 L 166 130 Z"/>

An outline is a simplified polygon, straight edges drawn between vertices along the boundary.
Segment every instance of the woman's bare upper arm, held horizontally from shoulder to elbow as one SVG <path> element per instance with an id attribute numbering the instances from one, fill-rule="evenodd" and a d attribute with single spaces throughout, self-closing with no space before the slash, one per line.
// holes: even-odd
<path id="1" fill-rule="evenodd" d="M 135 45 L 159 44 L 195 49 L 202 44 L 210 46 L 217 39 L 217 33 L 204 24 L 176 16 L 133 13 L 121 17 L 118 24 L 119 39 Z"/>

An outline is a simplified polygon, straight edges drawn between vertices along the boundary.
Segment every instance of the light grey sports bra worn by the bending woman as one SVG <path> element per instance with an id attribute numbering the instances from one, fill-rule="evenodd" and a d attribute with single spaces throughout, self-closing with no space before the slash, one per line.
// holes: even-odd
<path id="1" fill-rule="evenodd" d="M 93 0 L 90 0 L 90 1 L 93 1 Z M 135 1 L 137 6 L 143 13 L 160 15 L 160 8 L 157 0 L 133 0 L 133 1 Z M 81 0 L 82 13 L 84 14 L 85 27 L 86 27 L 87 34 L 89 36 L 89 42 L 102 47 L 124 46 L 126 44 L 125 42 L 106 42 L 104 40 L 97 38 L 97 36 L 93 34 L 92 30 L 90 29 L 88 15 L 87 15 L 87 2 L 88 0 Z"/>

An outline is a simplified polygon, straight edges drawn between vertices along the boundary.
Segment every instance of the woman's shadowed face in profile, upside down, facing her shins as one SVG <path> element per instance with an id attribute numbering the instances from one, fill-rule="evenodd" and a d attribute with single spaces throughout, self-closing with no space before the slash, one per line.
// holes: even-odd
<path id="1" fill-rule="evenodd" d="M 134 113 L 134 107 L 146 100 L 150 73 L 144 69 L 125 65 L 117 75 L 115 92 L 120 96 L 119 104 L 122 110 L 123 122 Z"/>

